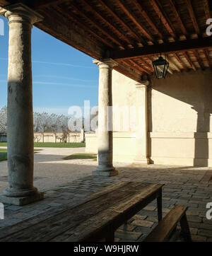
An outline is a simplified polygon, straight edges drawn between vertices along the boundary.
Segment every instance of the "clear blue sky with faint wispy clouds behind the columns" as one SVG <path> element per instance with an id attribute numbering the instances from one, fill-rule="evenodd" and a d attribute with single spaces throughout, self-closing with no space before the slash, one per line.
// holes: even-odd
<path id="1" fill-rule="evenodd" d="M 0 107 L 7 99 L 8 25 L 0 35 Z M 67 115 L 69 107 L 98 104 L 98 66 L 92 58 L 33 27 L 33 108 Z"/>

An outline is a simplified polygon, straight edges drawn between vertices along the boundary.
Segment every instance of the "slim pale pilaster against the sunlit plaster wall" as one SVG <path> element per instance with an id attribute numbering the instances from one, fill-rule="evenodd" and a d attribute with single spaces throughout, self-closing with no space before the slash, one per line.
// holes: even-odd
<path id="1" fill-rule="evenodd" d="M 147 87 L 149 81 L 136 83 L 136 109 L 137 109 L 137 132 L 136 132 L 136 158 L 134 163 L 149 164 L 148 158 L 148 100 Z"/>

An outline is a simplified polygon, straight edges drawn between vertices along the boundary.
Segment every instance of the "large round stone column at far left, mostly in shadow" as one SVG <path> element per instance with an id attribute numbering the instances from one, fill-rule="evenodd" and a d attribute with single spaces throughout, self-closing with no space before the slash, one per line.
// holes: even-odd
<path id="1" fill-rule="evenodd" d="M 42 16 L 23 4 L 0 8 L 8 18 L 8 183 L 0 202 L 23 205 L 43 198 L 33 187 L 31 29 Z"/>

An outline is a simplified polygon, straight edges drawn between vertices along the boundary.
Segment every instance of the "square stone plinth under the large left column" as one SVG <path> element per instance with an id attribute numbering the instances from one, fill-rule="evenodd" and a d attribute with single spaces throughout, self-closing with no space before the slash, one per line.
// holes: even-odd
<path id="1" fill-rule="evenodd" d="M 0 194 L 0 202 L 3 204 L 13 204 L 23 206 L 25 204 L 31 204 L 36 201 L 44 199 L 44 192 L 37 192 L 28 197 L 6 197 L 4 194 Z"/>

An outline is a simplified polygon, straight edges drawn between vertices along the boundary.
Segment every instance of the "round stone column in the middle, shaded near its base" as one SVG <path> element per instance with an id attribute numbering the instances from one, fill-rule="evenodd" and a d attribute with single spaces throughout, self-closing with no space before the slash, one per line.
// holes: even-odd
<path id="1" fill-rule="evenodd" d="M 112 165 L 112 59 L 95 60 L 99 66 L 98 105 L 98 167 L 94 175 L 114 176 L 118 171 Z"/>

